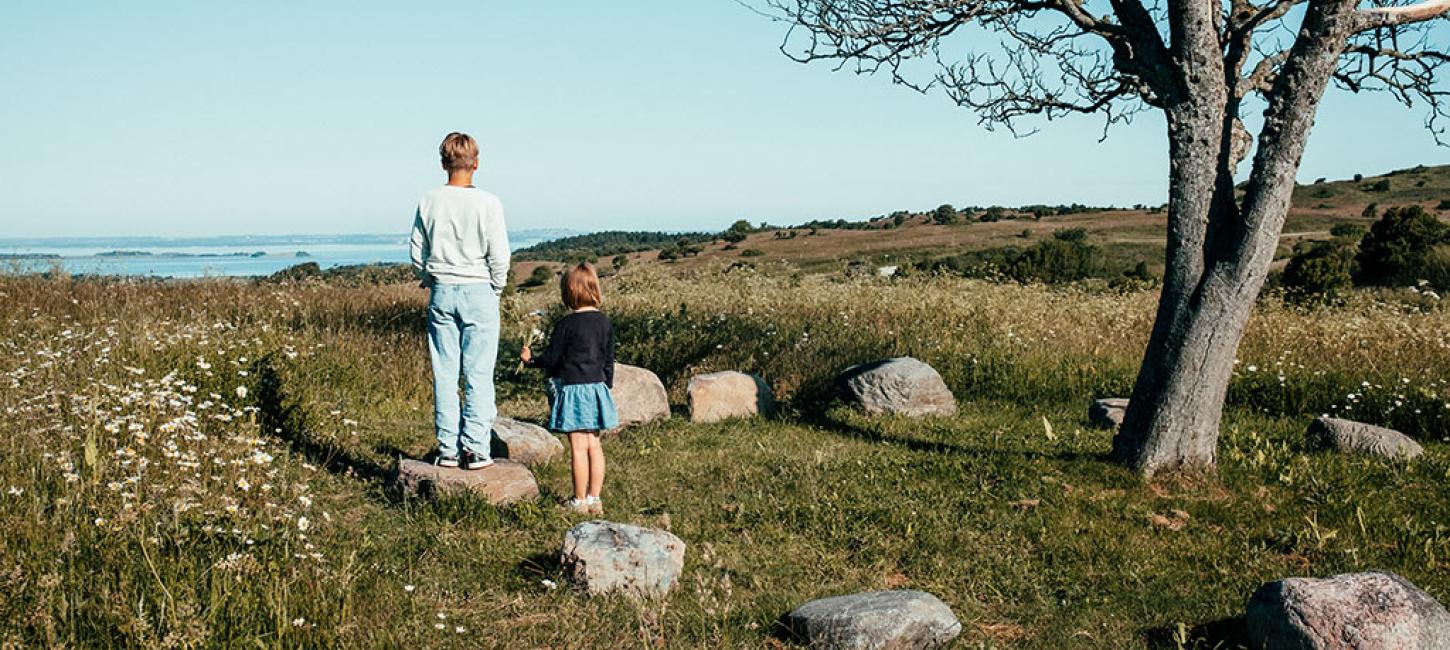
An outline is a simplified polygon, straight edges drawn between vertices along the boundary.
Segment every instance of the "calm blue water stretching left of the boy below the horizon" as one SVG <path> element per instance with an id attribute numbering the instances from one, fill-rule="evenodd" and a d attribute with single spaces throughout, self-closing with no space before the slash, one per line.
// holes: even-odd
<path id="1" fill-rule="evenodd" d="M 510 241 L 515 250 L 544 239 L 521 238 Z M 322 268 L 348 264 L 377 264 L 377 263 L 407 263 L 407 242 L 399 239 L 397 244 L 307 244 L 299 247 L 144 247 L 125 248 L 128 251 L 145 251 L 151 255 L 112 257 L 102 252 L 115 251 L 110 248 L 78 248 L 78 247 L 26 247 L 4 248 L 0 254 L 55 254 L 59 258 L 16 258 L 0 260 L 0 271 L 35 273 L 46 271 L 59 264 L 71 274 L 109 274 L 109 276 L 157 276 L 157 277 L 218 277 L 218 276 L 270 276 L 290 266 L 309 261 L 318 263 Z M 297 251 L 306 251 L 307 257 L 299 257 Z M 242 255 L 231 255 L 241 252 Z M 251 257 L 262 252 L 261 257 Z M 173 257 L 177 255 L 177 257 Z M 206 257 L 180 257 L 206 255 Z"/>

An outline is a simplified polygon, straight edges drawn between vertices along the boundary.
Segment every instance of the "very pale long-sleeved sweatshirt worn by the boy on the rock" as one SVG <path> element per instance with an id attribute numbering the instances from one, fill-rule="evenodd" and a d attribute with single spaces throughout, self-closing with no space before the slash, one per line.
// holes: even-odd
<path id="1" fill-rule="evenodd" d="M 413 271 L 438 284 L 489 283 L 509 277 L 509 232 L 503 203 L 477 187 L 442 186 L 418 200 L 409 242 Z"/>

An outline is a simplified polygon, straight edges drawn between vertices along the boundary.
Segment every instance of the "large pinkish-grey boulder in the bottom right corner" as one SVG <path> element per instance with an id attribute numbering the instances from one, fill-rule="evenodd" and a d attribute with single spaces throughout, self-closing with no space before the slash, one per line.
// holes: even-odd
<path id="1" fill-rule="evenodd" d="M 1450 612 L 1393 573 L 1270 582 L 1248 599 L 1244 620 L 1250 647 L 1450 649 Z"/>

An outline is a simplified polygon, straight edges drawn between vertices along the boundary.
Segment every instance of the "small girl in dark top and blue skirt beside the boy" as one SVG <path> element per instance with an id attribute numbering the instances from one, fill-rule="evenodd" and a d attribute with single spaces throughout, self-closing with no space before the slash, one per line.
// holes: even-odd
<path id="1" fill-rule="evenodd" d="M 564 273 L 558 283 L 571 309 L 554 324 L 548 350 L 535 357 L 525 347 L 519 358 L 548 373 L 550 431 L 568 434 L 573 453 L 576 512 L 602 515 L 599 490 L 605 485 L 605 450 L 599 432 L 619 427 L 609 389 L 615 384 L 615 331 L 599 310 L 599 276 L 589 263 Z"/>

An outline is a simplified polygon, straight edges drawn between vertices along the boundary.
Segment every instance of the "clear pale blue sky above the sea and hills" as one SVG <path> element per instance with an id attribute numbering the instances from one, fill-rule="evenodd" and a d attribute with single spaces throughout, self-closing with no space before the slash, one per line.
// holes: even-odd
<path id="1" fill-rule="evenodd" d="M 1157 115 L 1014 138 L 783 35 L 732 0 L 7 0 L 0 238 L 405 232 L 450 131 L 515 231 L 1167 196 Z M 1422 118 L 1331 91 L 1301 180 L 1450 162 Z"/>

